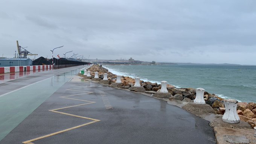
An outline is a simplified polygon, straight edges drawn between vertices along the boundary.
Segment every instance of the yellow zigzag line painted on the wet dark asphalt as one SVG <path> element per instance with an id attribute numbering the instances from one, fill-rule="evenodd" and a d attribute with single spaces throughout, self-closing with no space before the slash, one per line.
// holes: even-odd
<path id="1" fill-rule="evenodd" d="M 76 85 L 76 84 L 75 84 Z M 78 86 L 78 85 L 76 85 Z M 85 88 L 87 86 L 84 86 L 83 88 Z M 78 88 L 73 88 L 73 89 L 78 89 Z M 67 90 L 70 90 L 70 91 L 78 91 L 78 90 L 73 90 L 73 89 L 67 89 Z M 88 92 L 88 91 L 81 91 L 81 92 L 87 92 L 87 93 L 83 93 L 83 94 L 90 94 L 90 93 L 93 93 L 93 92 Z M 72 99 L 72 100 L 79 100 L 79 101 L 83 101 L 83 102 L 88 102 L 88 103 L 84 103 L 84 104 L 80 104 L 80 105 L 75 105 L 75 106 L 82 106 L 82 105 L 88 105 L 88 104 L 91 104 L 91 103 L 96 103 L 96 102 L 92 102 L 92 101 L 88 101 L 88 100 L 80 100 L 80 99 L 73 99 L 73 98 L 69 98 L 70 96 L 75 96 L 75 95 L 82 95 L 82 94 L 74 94 L 74 95 L 67 95 L 67 96 L 62 96 L 60 98 L 64 98 L 64 99 Z M 89 123 L 85 123 L 85 124 L 81 124 L 79 126 L 75 126 L 75 127 L 71 127 L 69 129 L 64 129 L 64 130 L 61 130 L 61 131 L 58 131 L 58 132 L 54 132 L 54 133 L 50 133 L 48 135 L 44 135 L 44 136 L 40 136 L 38 138 L 34 138 L 34 139 L 30 139 L 28 141 L 24 141 L 22 143 L 24 144 L 34 144 L 32 143 L 32 141 L 36 141 L 38 139 L 42 139 L 42 138 L 47 138 L 49 136 L 53 136 L 53 135 L 56 135 L 56 134 L 59 134 L 59 133 L 62 133 L 62 132 L 66 132 L 66 131 L 69 131 L 69 130 L 72 130 L 72 129 L 76 129 L 76 128 L 79 128 L 79 127 L 82 127 L 82 126 L 86 126 L 88 124 L 92 124 L 92 123 L 96 123 L 98 121 L 101 121 L 101 120 L 97 120 L 97 119 L 94 119 L 94 118 L 88 118 L 88 117 L 83 117 L 83 116 L 79 116 L 79 115 L 74 115 L 74 114 L 69 114 L 69 113 L 66 113 L 66 112 L 59 112 L 59 111 L 56 111 L 56 110 L 59 110 L 59 109 L 66 109 L 66 108 L 72 108 L 72 107 L 75 107 L 75 106 L 67 106 L 67 107 L 64 107 L 64 108 L 58 108 L 58 109 L 52 109 L 52 110 L 49 110 L 51 112 L 56 112 L 56 113 L 59 113 L 59 114 L 64 114 L 64 115 L 70 115 L 70 116 L 73 116 L 73 117 L 79 117 L 79 118 L 84 118 L 84 119 L 87 119 L 87 120 L 93 120 Z"/>

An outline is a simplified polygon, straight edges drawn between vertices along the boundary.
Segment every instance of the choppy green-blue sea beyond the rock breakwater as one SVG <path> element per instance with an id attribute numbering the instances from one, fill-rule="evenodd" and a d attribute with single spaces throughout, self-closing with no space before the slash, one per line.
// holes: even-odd
<path id="1" fill-rule="evenodd" d="M 162 80 L 177 88 L 204 88 L 225 99 L 256 102 L 256 66 L 230 65 L 105 65 L 111 73 Z"/>

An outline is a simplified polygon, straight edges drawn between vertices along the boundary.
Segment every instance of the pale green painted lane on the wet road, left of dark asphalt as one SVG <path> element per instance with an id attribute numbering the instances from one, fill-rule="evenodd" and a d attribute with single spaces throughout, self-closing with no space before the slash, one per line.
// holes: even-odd
<path id="1" fill-rule="evenodd" d="M 77 73 L 79 69 L 47 78 L 0 97 L 0 141 Z"/>

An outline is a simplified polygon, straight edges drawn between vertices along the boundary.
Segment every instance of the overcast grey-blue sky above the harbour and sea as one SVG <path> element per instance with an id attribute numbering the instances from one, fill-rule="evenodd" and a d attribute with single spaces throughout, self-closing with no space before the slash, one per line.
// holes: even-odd
<path id="1" fill-rule="evenodd" d="M 0 0 L 0 57 L 256 65 L 255 0 Z M 71 56 L 71 53 L 67 53 Z M 34 58 L 34 56 L 30 56 Z"/>

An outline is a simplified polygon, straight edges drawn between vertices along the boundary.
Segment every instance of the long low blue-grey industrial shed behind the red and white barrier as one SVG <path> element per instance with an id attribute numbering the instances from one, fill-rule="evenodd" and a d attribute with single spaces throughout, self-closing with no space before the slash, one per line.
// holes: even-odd
<path id="1" fill-rule="evenodd" d="M 29 58 L 1 58 L 0 67 L 29 66 L 32 60 Z"/>

